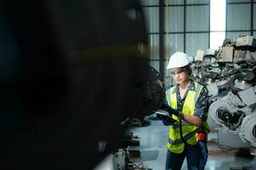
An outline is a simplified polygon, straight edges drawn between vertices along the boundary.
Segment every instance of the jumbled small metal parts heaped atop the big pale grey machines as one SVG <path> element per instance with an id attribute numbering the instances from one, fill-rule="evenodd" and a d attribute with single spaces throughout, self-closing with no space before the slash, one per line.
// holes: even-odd
<path id="1" fill-rule="evenodd" d="M 256 59 L 250 51 L 236 48 L 236 42 L 224 42 L 224 44 L 225 46 L 215 53 L 209 53 L 209 49 L 206 49 L 202 61 L 195 60 L 192 63 L 192 79 L 209 85 L 214 82 L 229 81 L 230 78 L 238 76 L 236 73 L 242 76 L 246 71 L 253 72 Z"/>

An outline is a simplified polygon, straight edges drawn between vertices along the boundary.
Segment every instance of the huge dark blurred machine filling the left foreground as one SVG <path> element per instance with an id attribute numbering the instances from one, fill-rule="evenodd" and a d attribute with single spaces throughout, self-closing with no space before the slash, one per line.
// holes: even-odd
<path id="1" fill-rule="evenodd" d="M 121 122 L 162 104 L 139 0 L 3 0 L 0 8 L 2 167 L 92 169 L 117 150 Z"/>

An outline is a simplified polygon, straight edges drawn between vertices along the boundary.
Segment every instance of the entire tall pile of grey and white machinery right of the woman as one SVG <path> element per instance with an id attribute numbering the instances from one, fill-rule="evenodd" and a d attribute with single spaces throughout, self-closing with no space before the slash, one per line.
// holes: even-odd
<path id="1" fill-rule="evenodd" d="M 225 39 L 219 50 L 198 50 L 193 79 L 208 88 L 208 115 L 216 123 L 218 144 L 256 154 L 256 78 L 254 37 Z"/>

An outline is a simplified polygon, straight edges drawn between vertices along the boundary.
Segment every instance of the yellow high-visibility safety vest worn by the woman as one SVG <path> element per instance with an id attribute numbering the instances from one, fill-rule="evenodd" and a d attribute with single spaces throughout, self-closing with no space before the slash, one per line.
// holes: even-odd
<path id="1" fill-rule="evenodd" d="M 198 96 L 201 93 L 203 88 L 201 84 L 198 84 L 197 82 L 193 82 L 193 83 L 195 85 L 195 89 L 194 90 L 189 89 L 185 97 L 185 103 L 181 111 L 182 113 L 188 114 L 188 115 L 194 114 L 194 110 L 196 107 L 196 100 L 198 99 Z M 173 109 L 178 109 L 177 95 L 174 88 L 175 86 L 173 88 L 168 89 L 168 91 L 166 92 L 167 100 L 168 100 L 168 105 L 170 105 Z M 170 126 L 167 147 L 168 147 L 168 150 L 179 154 L 179 153 L 182 153 L 185 148 L 184 142 L 191 145 L 195 145 L 197 143 L 198 141 L 197 131 L 199 127 L 179 120 L 178 116 L 172 115 L 172 117 L 174 118 L 174 120 L 177 120 L 176 124 L 178 124 L 178 126 L 174 126 L 174 125 Z M 181 130 L 182 130 L 183 139 L 180 138 L 179 123 L 182 123 Z M 202 126 L 208 127 L 208 123 L 202 122 Z"/>

